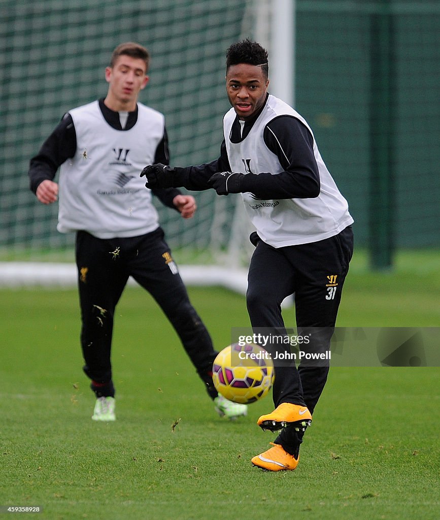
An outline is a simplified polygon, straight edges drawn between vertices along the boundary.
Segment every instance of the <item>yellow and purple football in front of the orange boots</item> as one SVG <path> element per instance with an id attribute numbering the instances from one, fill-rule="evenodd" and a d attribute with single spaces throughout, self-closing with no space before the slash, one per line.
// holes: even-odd
<path id="1" fill-rule="evenodd" d="M 217 392 L 244 405 L 268 394 L 274 377 L 269 353 L 253 343 L 233 343 L 223 348 L 212 364 L 212 380 Z"/>

